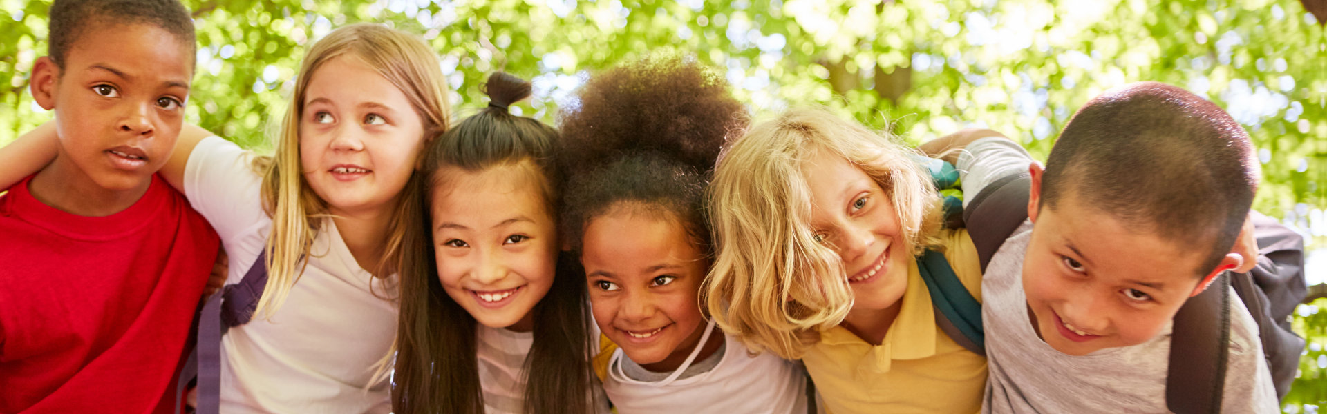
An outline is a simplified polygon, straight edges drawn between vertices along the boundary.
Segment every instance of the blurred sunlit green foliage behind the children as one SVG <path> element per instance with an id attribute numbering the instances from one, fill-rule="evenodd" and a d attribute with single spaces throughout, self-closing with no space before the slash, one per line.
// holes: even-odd
<path id="1" fill-rule="evenodd" d="M 1253 135 L 1263 169 L 1254 207 L 1306 236 L 1312 285 L 1327 281 L 1327 34 L 1308 9 L 1327 19 L 1327 1 L 1304 1 L 186 0 L 199 41 L 186 119 L 269 147 L 304 48 L 361 21 L 427 40 L 456 117 L 487 104 L 478 85 L 503 69 L 535 81 L 535 98 L 514 110 L 552 122 L 587 70 L 675 48 L 721 68 L 758 117 L 828 105 L 912 143 L 990 127 L 1044 159 L 1092 96 L 1162 81 L 1217 102 Z M 27 92 L 48 7 L 0 0 L 0 145 L 50 118 Z M 1296 312 L 1310 348 L 1287 413 L 1327 405 L 1320 307 Z"/>

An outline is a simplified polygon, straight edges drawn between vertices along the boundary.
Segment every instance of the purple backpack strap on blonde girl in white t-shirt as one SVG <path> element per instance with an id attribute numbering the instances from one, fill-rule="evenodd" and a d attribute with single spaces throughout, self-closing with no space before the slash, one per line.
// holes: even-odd
<path id="1" fill-rule="evenodd" d="M 203 304 L 198 325 L 198 413 L 220 413 L 222 336 L 253 317 L 267 287 L 267 249 L 253 260 L 244 279 L 226 285 Z"/>

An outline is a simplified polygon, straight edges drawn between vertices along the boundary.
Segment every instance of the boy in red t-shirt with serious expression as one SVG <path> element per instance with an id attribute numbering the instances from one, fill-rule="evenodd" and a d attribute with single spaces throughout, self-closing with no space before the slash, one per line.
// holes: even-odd
<path id="1" fill-rule="evenodd" d="M 0 413 L 171 413 L 218 239 L 155 172 L 194 72 L 178 0 L 57 0 L 58 155 L 0 195 Z"/>

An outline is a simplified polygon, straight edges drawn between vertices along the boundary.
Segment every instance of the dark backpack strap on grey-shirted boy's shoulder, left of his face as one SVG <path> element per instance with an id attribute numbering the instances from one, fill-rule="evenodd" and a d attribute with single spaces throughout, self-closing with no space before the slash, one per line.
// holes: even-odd
<path id="1" fill-rule="evenodd" d="M 973 196 L 963 207 L 963 223 L 967 235 L 977 247 L 982 272 L 990 264 L 991 256 L 1014 234 L 1018 226 L 1027 220 L 1027 200 L 1032 187 L 1028 172 L 1001 176 Z"/>

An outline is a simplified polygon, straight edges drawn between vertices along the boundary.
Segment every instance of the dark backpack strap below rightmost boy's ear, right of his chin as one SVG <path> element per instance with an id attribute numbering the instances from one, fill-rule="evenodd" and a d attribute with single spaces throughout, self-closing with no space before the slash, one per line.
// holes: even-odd
<path id="1" fill-rule="evenodd" d="M 1165 402 L 1170 411 L 1221 413 L 1229 341 L 1230 272 L 1223 272 L 1174 314 L 1165 378 Z"/>

